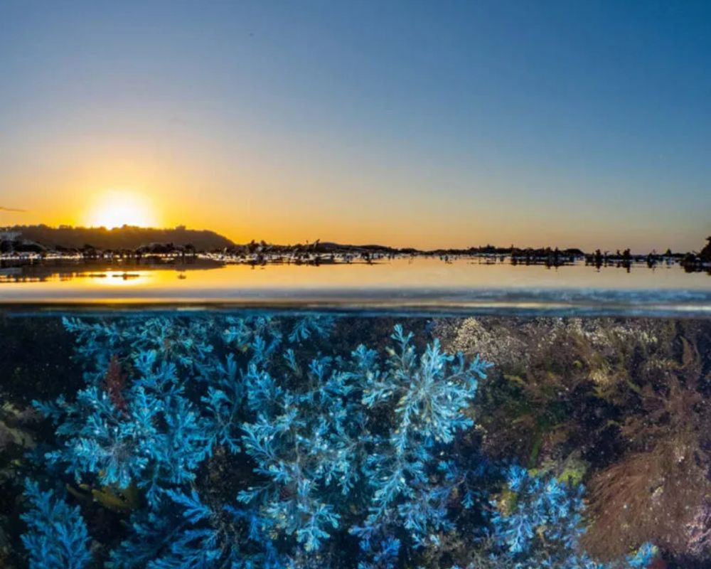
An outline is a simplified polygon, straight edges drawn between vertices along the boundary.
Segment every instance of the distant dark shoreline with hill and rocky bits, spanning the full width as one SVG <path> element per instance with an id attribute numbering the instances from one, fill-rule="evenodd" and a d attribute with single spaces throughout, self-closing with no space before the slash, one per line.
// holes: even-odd
<path id="1" fill-rule="evenodd" d="M 679 264 L 688 270 L 711 267 L 711 238 L 700 252 L 632 253 L 629 249 L 615 252 L 578 248 L 518 248 L 486 245 L 471 248 L 392 248 L 386 245 L 344 245 L 316 240 L 314 243 L 274 245 L 252 241 L 233 243 L 210 230 L 191 230 L 184 226 L 173 229 L 139 228 L 73 228 L 48 225 L 15 225 L 0 228 L 0 261 L 7 267 L 13 262 L 90 262 L 154 260 L 154 262 L 187 262 L 201 259 L 218 264 L 294 263 L 320 265 L 328 263 L 375 262 L 395 256 L 441 257 L 444 262 L 459 257 L 509 260 L 513 265 L 547 265 L 560 267 L 584 261 L 595 267 L 646 263 Z"/>

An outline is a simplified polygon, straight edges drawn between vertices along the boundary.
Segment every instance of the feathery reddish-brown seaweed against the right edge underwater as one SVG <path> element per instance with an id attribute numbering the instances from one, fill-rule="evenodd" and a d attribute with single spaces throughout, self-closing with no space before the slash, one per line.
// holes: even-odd
<path id="1" fill-rule="evenodd" d="M 700 524 L 711 495 L 711 415 L 699 351 L 681 336 L 678 356 L 648 366 L 646 381 L 620 427 L 629 451 L 590 482 L 587 543 L 608 558 L 645 540 L 698 557 L 711 546 Z"/>

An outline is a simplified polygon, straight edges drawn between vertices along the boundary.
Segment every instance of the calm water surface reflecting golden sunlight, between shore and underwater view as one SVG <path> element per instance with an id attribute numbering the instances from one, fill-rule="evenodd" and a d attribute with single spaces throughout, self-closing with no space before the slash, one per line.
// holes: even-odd
<path id="1" fill-rule="evenodd" d="M 2 270 L 0 302 L 281 304 L 702 315 L 711 277 L 678 265 L 562 267 L 418 257 L 350 265 L 77 265 Z M 622 312 L 621 312 L 622 311 Z"/>

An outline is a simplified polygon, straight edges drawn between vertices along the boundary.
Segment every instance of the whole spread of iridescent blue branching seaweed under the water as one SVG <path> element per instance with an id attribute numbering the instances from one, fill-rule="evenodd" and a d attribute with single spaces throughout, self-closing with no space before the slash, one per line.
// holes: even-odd
<path id="1" fill-rule="evenodd" d="M 33 568 L 606 569 L 655 555 L 595 563 L 579 546 L 582 486 L 488 461 L 472 403 L 491 364 L 437 339 L 417 349 L 398 325 L 382 351 L 334 353 L 336 323 L 319 316 L 65 326 L 85 386 L 35 403 L 57 442 L 39 466 L 104 496 L 87 519 L 106 496 L 140 499 L 112 511 L 117 536 L 92 556 L 93 524 L 28 482 Z"/>

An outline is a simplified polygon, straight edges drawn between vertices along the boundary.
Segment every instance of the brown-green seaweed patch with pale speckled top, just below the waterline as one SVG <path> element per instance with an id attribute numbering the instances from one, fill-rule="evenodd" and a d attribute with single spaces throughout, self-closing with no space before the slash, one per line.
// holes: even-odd
<path id="1" fill-rule="evenodd" d="M 476 402 L 486 450 L 535 468 L 574 450 L 614 458 L 614 425 L 635 404 L 643 363 L 668 357 L 675 330 L 637 319 L 470 318 L 438 331 L 450 349 L 496 362 Z"/>

